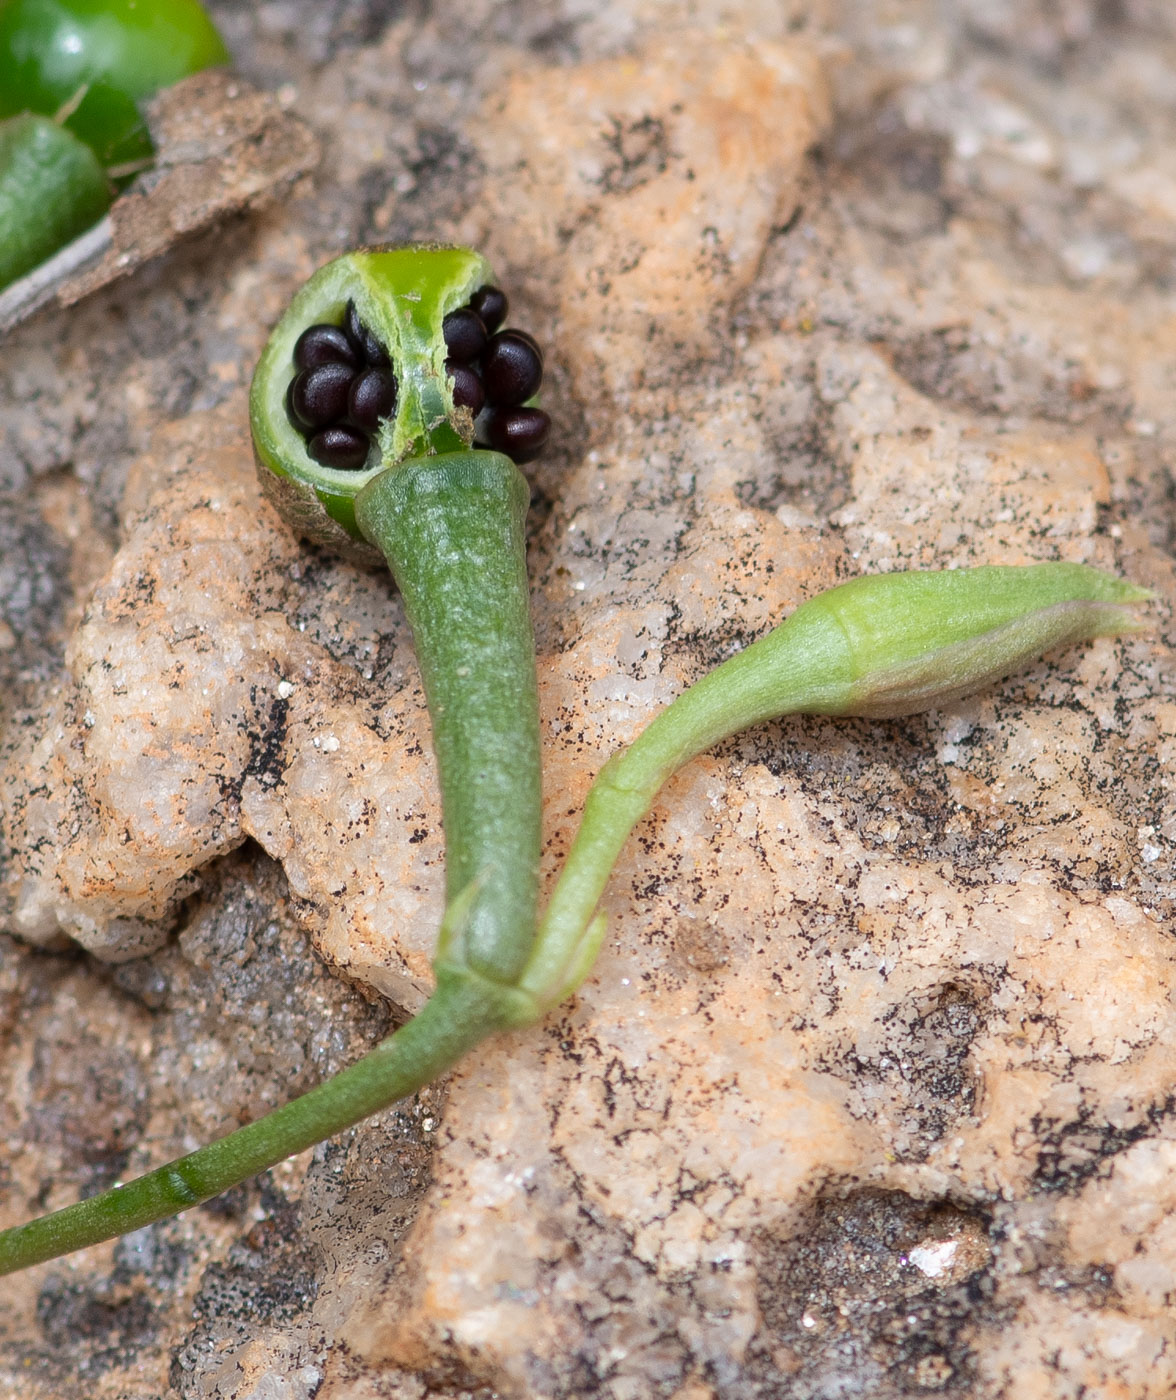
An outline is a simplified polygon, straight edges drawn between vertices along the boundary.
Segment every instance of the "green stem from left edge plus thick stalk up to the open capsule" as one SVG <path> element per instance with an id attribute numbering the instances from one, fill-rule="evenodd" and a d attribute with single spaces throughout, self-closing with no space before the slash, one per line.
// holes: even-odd
<path id="1" fill-rule="evenodd" d="M 433 998 L 358 1064 L 258 1123 L 0 1233 L 0 1274 L 206 1201 L 428 1084 L 487 1035 L 536 1018 L 514 987 L 535 934 L 540 841 L 528 503 L 514 462 L 494 452 L 410 461 L 356 503 L 403 594 L 433 720 L 448 893 Z"/>

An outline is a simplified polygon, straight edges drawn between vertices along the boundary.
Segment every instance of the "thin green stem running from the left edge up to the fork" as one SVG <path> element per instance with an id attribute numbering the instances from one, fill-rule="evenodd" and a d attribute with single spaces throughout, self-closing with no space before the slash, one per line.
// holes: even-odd
<path id="1" fill-rule="evenodd" d="M 413 1021 L 309 1093 L 126 1186 L 0 1233 L 0 1274 L 199 1205 L 413 1093 L 517 1019 L 512 1000 L 496 988 L 438 976 L 437 991 Z"/>

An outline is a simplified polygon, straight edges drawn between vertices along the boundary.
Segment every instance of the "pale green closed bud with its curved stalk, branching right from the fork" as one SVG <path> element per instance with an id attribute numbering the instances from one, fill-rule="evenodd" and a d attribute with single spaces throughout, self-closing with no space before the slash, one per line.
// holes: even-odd
<path id="1" fill-rule="evenodd" d="M 685 690 L 623 752 L 584 820 L 539 927 L 521 993 L 546 1009 L 587 976 L 596 903 L 661 785 L 721 739 L 785 714 L 916 714 L 983 689 L 1054 647 L 1135 630 L 1149 595 L 1084 564 L 872 574 L 802 603 Z"/>

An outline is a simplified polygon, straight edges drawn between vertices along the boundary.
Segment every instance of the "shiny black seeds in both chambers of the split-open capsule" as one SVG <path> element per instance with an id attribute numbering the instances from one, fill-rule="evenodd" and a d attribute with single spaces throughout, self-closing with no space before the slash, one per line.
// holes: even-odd
<path id="1" fill-rule="evenodd" d="M 525 330 L 500 330 L 507 298 L 479 287 L 442 322 L 445 370 L 454 403 L 475 417 L 475 438 L 515 462 L 536 456 L 552 421 L 524 407 L 539 391 L 543 351 Z M 367 465 L 371 437 L 396 412 L 399 385 L 388 351 L 347 302 L 342 326 L 308 326 L 294 346 L 294 378 L 286 412 L 323 466 L 356 472 Z"/>

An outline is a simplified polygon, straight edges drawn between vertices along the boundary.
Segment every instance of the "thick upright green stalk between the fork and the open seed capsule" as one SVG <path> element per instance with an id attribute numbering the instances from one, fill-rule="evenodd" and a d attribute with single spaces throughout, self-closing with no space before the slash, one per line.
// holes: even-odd
<path id="1" fill-rule="evenodd" d="M 510 458 L 451 452 L 402 463 L 356 500 L 403 595 L 433 722 L 447 902 L 462 909 L 441 963 L 505 986 L 535 935 L 542 834 L 529 498 Z"/>

